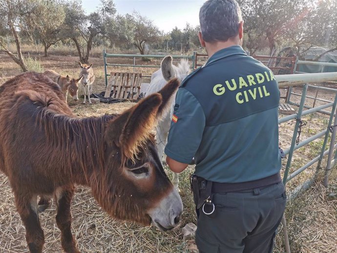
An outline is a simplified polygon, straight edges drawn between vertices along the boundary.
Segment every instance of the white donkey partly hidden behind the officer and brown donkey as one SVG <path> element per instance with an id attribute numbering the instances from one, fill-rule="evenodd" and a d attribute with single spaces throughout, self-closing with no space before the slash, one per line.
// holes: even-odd
<path id="1" fill-rule="evenodd" d="M 146 95 L 149 96 L 152 93 L 158 92 L 162 87 L 165 86 L 167 81 L 171 78 L 178 78 L 179 81 L 183 81 L 185 77 L 190 73 L 190 64 L 186 59 L 182 59 L 178 66 L 172 64 L 172 57 L 166 56 L 162 63 L 161 68 L 153 73 L 151 76 L 151 82 L 148 85 Z M 169 126 L 171 124 L 172 115 L 173 115 L 173 106 L 175 104 L 175 94 L 172 98 L 172 105 L 170 110 L 163 115 L 162 120 L 156 126 L 156 142 L 157 142 L 157 151 L 159 157 L 164 160 L 164 148 L 168 142 Z M 174 173 L 172 183 L 176 189 L 178 189 L 179 178 L 178 174 Z"/>

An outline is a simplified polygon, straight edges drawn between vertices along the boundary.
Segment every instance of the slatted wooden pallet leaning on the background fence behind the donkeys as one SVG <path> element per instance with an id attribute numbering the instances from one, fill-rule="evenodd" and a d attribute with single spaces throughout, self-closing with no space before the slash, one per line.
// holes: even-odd
<path id="1" fill-rule="evenodd" d="M 135 100 L 140 94 L 142 79 L 142 73 L 111 72 L 104 97 Z"/>

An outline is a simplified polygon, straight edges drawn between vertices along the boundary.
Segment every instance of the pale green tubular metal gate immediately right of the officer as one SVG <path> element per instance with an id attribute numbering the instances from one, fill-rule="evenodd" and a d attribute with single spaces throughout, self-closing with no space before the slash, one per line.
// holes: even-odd
<path id="1" fill-rule="evenodd" d="M 287 163 L 286 163 L 286 166 L 285 166 L 285 169 L 284 169 L 283 183 L 286 185 L 289 181 L 294 179 L 301 172 L 303 172 L 304 170 L 310 168 L 311 166 L 313 166 L 314 164 L 317 163 L 316 171 L 315 171 L 314 176 L 312 178 L 307 179 L 305 182 L 303 182 L 302 184 L 297 186 L 294 190 L 289 192 L 289 196 L 288 196 L 288 200 L 289 200 L 289 199 L 294 199 L 295 197 L 297 197 L 298 193 L 301 190 L 308 189 L 311 186 L 311 184 L 314 182 L 314 180 L 316 179 L 316 177 L 318 175 L 319 169 L 321 169 L 321 164 L 322 164 L 322 160 L 323 160 L 324 156 L 328 155 L 328 160 L 327 160 L 327 165 L 326 165 L 325 175 L 324 175 L 324 182 L 323 182 L 324 186 L 327 186 L 327 184 L 328 184 L 330 169 L 333 166 L 336 165 L 337 151 L 335 152 L 335 155 L 334 155 L 334 149 L 337 147 L 337 145 L 335 144 L 336 131 L 337 131 L 337 117 L 335 117 L 335 121 L 334 121 L 333 125 L 332 125 L 332 121 L 333 121 L 333 118 L 334 118 L 335 112 L 336 112 L 337 90 L 331 89 L 335 93 L 334 102 L 328 103 L 326 105 L 316 106 L 316 107 L 313 106 L 313 108 L 310 108 L 310 109 L 307 109 L 307 110 L 304 110 L 304 108 L 305 108 L 304 104 L 305 104 L 305 100 L 307 98 L 307 90 L 308 90 L 309 83 L 328 82 L 328 81 L 337 80 L 337 72 L 316 73 L 316 74 L 276 75 L 275 78 L 278 82 L 279 87 L 286 87 L 286 86 L 293 87 L 294 85 L 303 84 L 301 100 L 300 100 L 300 103 L 298 104 L 299 107 L 298 107 L 297 113 L 279 118 L 279 120 L 278 120 L 279 124 L 282 124 L 282 123 L 285 123 L 285 122 L 288 122 L 288 121 L 294 120 L 294 119 L 296 120 L 294 132 L 293 132 L 293 137 L 292 137 L 292 140 L 291 140 L 291 145 L 290 145 L 290 147 L 285 148 L 284 151 L 283 151 L 284 155 L 288 155 Z M 290 95 L 290 93 L 291 92 L 289 92 L 289 95 Z M 331 107 L 331 112 L 330 112 L 330 116 L 329 116 L 327 126 L 322 131 L 316 133 L 315 135 L 313 135 L 313 136 L 311 136 L 311 137 L 309 137 L 305 140 L 299 141 L 299 139 L 298 139 L 299 131 L 298 130 L 300 130 L 300 127 L 303 126 L 302 125 L 302 123 L 303 123 L 302 117 L 306 116 L 306 115 L 309 115 L 311 113 L 320 112 L 321 110 L 323 110 L 325 108 L 328 108 L 328 107 Z M 332 132 L 330 147 L 327 150 L 325 150 L 326 146 L 327 146 L 327 142 L 328 142 L 330 132 Z M 294 155 L 295 150 L 297 150 L 299 148 L 302 148 L 305 145 L 308 145 L 309 143 L 311 143 L 311 142 L 315 141 L 316 139 L 321 138 L 323 136 L 324 136 L 324 141 L 323 141 L 320 153 L 317 154 L 317 156 L 314 159 L 312 159 L 311 161 L 308 161 L 301 168 L 293 169 L 292 172 L 290 173 L 293 155 Z M 332 160 L 333 156 L 335 156 L 334 161 Z M 283 232 L 284 232 L 286 252 L 290 253 L 290 243 L 289 243 L 289 239 L 288 239 L 288 232 L 287 232 L 285 215 L 283 215 L 283 217 L 282 217 L 282 224 L 283 224 Z"/>

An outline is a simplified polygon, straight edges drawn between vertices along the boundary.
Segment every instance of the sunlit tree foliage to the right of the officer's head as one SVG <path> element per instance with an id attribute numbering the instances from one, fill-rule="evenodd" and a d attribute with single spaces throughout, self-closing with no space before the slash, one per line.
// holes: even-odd
<path id="1" fill-rule="evenodd" d="M 247 42 L 254 53 L 266 45 L 301 48 L 337 46 L 337 2 L 335 0 L 238 0 Z M 266 44 L 267 43 L 267 44 Z"/>

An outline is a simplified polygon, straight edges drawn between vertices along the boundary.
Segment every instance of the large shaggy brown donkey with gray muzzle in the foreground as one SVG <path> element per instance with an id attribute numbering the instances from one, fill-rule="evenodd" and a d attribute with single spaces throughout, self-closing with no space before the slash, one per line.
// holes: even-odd
<path id="1" fill-rule="evenodd" d="M 70 231 L 74 184 L 89 186 L 111 217 L 162 230 L 179 222 L 183 204 L 151 134 L 178 85 L 171 80 L 122 114 L 90 118 L 76 117 L 43 74 L 26 72 L 0 86 L 0 170 L 31 253 L 44 244 L 38 195 L 55 197 L 63 250 L 79 253 Z"/>

